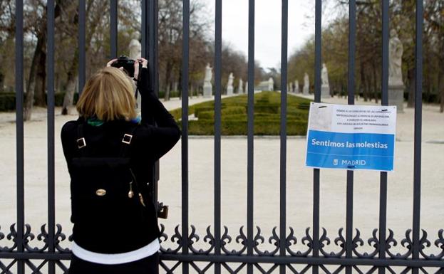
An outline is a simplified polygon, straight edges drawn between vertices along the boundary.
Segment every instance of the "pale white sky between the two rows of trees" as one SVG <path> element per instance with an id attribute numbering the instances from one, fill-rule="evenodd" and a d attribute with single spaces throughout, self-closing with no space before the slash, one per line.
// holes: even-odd
<path id="1" fill-rule="evenodd" d="M 215 16 L 215 1 L 207 4 L 209 16 Z M 255 59 L 262 68 L 278 68 L 281 60 L 282 1 L 255 1 Z M 325 8 L 324 8 L 325 9 Z M 324 21 L 324 19 L 323 19 Z M 314 1 L 289 0 L 288 54 L 301 48 L 314 35 Z M 323 25 L 325 23 L 323 22 Z M 214 28 L 213 28 L 214 31 Z M 222 1 L 222 40 L 234 50 L 248 53 L 248 0 Z"/>

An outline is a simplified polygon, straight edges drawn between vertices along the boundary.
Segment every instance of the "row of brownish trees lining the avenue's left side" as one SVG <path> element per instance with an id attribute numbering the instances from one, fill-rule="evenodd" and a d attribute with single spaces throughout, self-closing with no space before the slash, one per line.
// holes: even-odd
<path id="1" fill-rule="evenodd" d="M 10 49 L 14 48 L 14 0 L 0 0 L 0 60 L 13 63 Z M 118 1 L 118 54 L 128 55 L 132 33 L 140 29 L 140 0 Z M 190 3 L 190 91 L 197 94 L 202 87 L 205 65 L 214 63 L 214 45 L 205 3 Z M 55 6 L 55 89 L 64 93 L 62 114 L 68 114 L 78 83 L 78 1 L 56 0 Z M 86 1 L 86 77 L 110 59 L 110 16 L 108 1 Z M 182 75 L 182 1 L 159 0 L 159 80 L 160 90 L 169 99 L 170 91 L 180 88 Z M 25 118 L 31 119 L 33 105 L 46 106 L 46 1 L 28 0 L 24 3 L 24 75 Z M 233 72 L 247 79 L 247 58 L 223 46 L 222 79 L 226 83 Z M 12 58 L 12 60 L 11 60 Z M 255 65 L 255 75 L 261 68 Z M 0 91 L 14 90 L 14 71 L 0 68 Z M 224 84 L 225 85 L 225 84 Z"/>

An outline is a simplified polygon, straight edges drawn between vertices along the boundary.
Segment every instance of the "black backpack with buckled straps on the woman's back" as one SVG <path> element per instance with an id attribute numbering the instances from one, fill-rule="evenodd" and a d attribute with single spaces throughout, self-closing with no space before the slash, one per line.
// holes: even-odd
<path id="1" fill-rule="evenodd" d="M 93 157 L 83 124 L 78 125 L 81 157 L 71 162 L 71 221 L 75 226 L 122 231 L 128 224 L 143 223 L 145 202 L 128 155 L 136 128 L 123 135 L 117 157 Z"/>

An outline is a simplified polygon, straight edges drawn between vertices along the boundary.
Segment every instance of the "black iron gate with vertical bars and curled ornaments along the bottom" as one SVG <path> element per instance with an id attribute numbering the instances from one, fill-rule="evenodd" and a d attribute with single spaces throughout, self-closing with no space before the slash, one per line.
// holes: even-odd
<path id="1" fill-rule="evenodd" d="M 85 83 L 85 0 L 79 2 L 79 86 Z M 117 56 L 117 0 L 110 0 L 110 37 L 111 56 Z M 382 36 L 382 105 L 388 105 L 388 0 L 382 0 L 383 26 Z M 142 0 L 142 52 L 150 61 L 150 83 L 158 90 L 158 0 Z M 398 241 L 386 227 L 387 212 L 387 173 L 380 176 L 379 223 L 373 231 L 373 237 L 368 239 L 373 249 L 370 253 L 360 253 L 358 246 L 363 243 L 360 233 L 353 228 L 353 172 L 346 176 L 346 227 L 339 231 L 334 240 L 337 251 L 326 251 L 325 247 L 331 240 L 319 226 L 319 192 L 320 170 L 313 171 L 313 223 L 306 229 L 306 235 L 300 240 L 306 247 L 295 251 L 292 246 L 296 243 L 293 228 L 287 234 L 286 224 L 286 83 L 287 83 L 287 19 L 288 0 L 282 0 L 282 93 L 281 93 L 281 134 L 280 134 L 280 221 L 279 228 L 274 231 L 269 242 L 274 249 L 263 251 L 260 247 L 264 238 L 258 229 L 254 233 L 253 218 L 253 189 L 254 189 L 254 0 L 249 0 L 249 50 L 248 50 L 248 135 L 247 135 L 247 226 L 239 234 L 230 236 L 227 230 L 222 233 L 221 223 L 221 51 L 222 51 L 222 0 L 215 0 L 215 181 L 214 181 L 214 224 L 212 230 L 205 235 L 209 245 L 207 250 L 193 246 L 199 236 L 188 221 L 188 50 L 190 26 L 190 1 L 183 0 L 183 46 L 182 46 L 182 223 L 180 230 L 167 236 L 162 227 L 161 239 L 175 240 L 176 248 L 162 248 L 161 267 L 167 273 L 444 273 L 444 235 L 438 232 L 434 241 L 440 253 L 430 255 L 426 250 L 430 246 L 427 233 L 420 230 L 420 165 L 421 165 L 421 112 L 422 112 L 422 78 L 423 78 L 423 1 L 416 2 L 416 44 L 415 44 L 415 139 L 414 139 L 414 194 L 412 229 L 406 231 L 406 237 L 398 239 L 404 246 L 405 253 L 393 252 L 393 246 Z M 62 233 L 61 226 L 55 221 L 54 202 L 54 0 L 48 0 L 48 223 L 41 227 L 37 239 L 43 241 L 41 248 L 33 247 L 31 227 L 24 218 L 24 122 L 23 122 L 23 1 L 16 1 L 16 152 L 17 152 L 17 219 L 10 227 L 9 233 L 0 232 L 0 239 L 5 236 L 11 246 L 0 247 L 1 273 L 58 273 L 67 272 L 67 262 L 71 257 L 69 250 L 61 248 L 62 241 L 68 241 Z M 316 0 L 315 26 L 315 101 L 321 99 L 321 0 Z M 349 94 L 348 102 L 354 103 L 355 71 L 355 42 L 356 42 L 356 0 L 349 1 Z M 190 227 L 192 228 L 190 231 Z M 353 229 L 356 232 L 353 233 Z M 387 233 L 388 232 L 388 233 Z M 227 243 L 237 241 L 242 248 L 229 250 Z M 36 240 L 34 240 L 35 242 Z M 38 263 L 36 261 L 38 260 Z M 173 266 L 168 266 L 172 261 Z M 201 262 L 201 263 L 197 263 Z M 202 267 L 202 263 L 205 266 Z M 232 268 L 230 263 L 237 263 Z M 268 265 L 268 270 L 264 269 Z M 296 270 L 294 265 L 302 266 Z M 326 266 L 329 266 L 327 268 Z M 331 266 L 335 266 L 331 270 Z M 363 270 L 366 266 L 366 270 Z M 161 269 L 162 269 L 161 268 Z"/>

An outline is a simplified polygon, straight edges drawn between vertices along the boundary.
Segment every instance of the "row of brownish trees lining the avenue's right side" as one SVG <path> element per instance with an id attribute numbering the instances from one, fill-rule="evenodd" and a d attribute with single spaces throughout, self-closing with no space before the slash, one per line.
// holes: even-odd
<path id="1" fill-rule="evenodd" d="M 349 1 L 336 3 L 336 19 L 322 30 L 322 60 L 329 68 L 331 90 L 346 94 Z M 381 1 L 356 1 L 356 94 L 364 100 L 378 100 L 381 96 Z M 408 106 L 413 107 L 415 95 L 415 0 L 390 1 L 390 28 L 398 32 L 403 42 L 403 80 L 408 92 Z M 444 2 L 424 1 L 423 28 L 423 100 L 440 102 L 444 112 Z M 304 72 L 314 80 L 314 38 L 307 41 L 289 58 L 289 75 L 302 83 Z M 289 79 L 291 80 L 291 79 Z"/>

